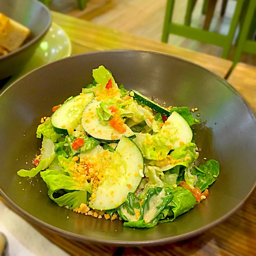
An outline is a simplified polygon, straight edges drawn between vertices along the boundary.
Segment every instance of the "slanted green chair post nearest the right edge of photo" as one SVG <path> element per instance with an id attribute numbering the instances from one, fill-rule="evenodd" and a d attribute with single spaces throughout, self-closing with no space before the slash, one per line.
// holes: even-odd
<path id="1" fill-rule="evenodd" d="M 234 58 L 233 58 L 234 64 L 239 62 L 241 54 L 243 52 L 243 47 L 244 47 L 245 41 L 247 39 L 247 35 L 249 33 L 249 30 L 250 30 L 251 22 L 253 21 L 253 15 L 254 15 L 255 10 L 256 10 L 256 1 L 254 1 L 254 0 L 250 1 L 247 10 L 248 11 L 246 13 L 245 21 L 243 23 L 241 35 L 240 35 L 240 38 L 239 38 L 239 41 L 238 41 L 238 46 L 237 46 L 237 49 L 235 51 L 235 55 L 234 55 Z"/>

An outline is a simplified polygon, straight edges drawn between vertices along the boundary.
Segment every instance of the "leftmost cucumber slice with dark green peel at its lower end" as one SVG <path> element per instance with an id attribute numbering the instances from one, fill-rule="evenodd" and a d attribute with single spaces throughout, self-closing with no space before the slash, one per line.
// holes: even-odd
<path id="1" fill-rule="evenodd" d="M 78 125 L 86 105 L 95 97 L 93 92 L 77 95 L 60 106 L 51 116 L 51 124 L 58 134 L 69 134 Z"/>

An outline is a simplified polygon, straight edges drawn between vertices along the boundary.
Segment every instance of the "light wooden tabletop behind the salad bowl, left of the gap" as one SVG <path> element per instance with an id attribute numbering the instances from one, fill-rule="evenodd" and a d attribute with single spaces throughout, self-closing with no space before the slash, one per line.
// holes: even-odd
<path id="1" fill-rule="evenodd" d="M 192 61 L 221 77 L 225 77 L 232 66 L 232 62 L 226 59 L 113 30 L 64 14 L 52 12 L 52 15 L 53 21 L 61 26 L 70 37 L 73 54 L 122 49 L 156 51 Z"/>

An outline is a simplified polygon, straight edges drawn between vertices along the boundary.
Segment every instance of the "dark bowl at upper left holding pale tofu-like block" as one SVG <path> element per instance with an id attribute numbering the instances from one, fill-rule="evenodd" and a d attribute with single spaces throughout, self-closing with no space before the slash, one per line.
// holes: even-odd
<path id="1" fill-rule="evenodd" d="M 19 49 L 0 56 L 0 79 L 3 79 L 17 73 L 32 57 L 51 26 L 51 14 L 37 0 L 0 0 L 0 12 L 31 31 L 29 38 Z"/>

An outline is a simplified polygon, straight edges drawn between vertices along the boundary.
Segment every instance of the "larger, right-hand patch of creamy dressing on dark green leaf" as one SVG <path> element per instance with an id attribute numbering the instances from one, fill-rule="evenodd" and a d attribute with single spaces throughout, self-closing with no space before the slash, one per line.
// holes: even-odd
<path id="1" fill-rule="evenodd" d="M 157 215 L 157 213 L 158 213 L 157 206 L 161 205 L 161 203 L 163 202 L 162 197 L 165 197 L 164 189 L 162 189 L 162 191 L 158 195 L 153 195 L 149 199 L 149 210 L 147 209 L 147 206 L 145 205 L 143 219 L 146 222 L 150 222 Z"/>

